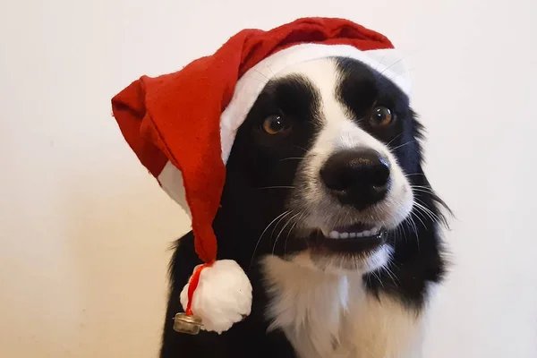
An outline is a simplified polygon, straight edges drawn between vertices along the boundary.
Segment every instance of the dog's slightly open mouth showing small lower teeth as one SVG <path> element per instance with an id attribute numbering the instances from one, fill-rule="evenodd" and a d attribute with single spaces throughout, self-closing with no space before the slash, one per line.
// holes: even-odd
<path id="1" fill-rule="evenodd" d="M 364 255 L 386 243 L 387 231 L 381 226 L 354 223 L 331 230 L 320 229 L 311 236 L 312 246 L 317 251 Z"/>

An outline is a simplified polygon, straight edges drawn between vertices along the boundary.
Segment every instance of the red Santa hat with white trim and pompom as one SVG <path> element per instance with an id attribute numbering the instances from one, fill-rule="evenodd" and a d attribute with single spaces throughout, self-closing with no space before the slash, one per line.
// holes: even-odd
<path id="1" fill-rule="evenodd" d="M 352 21 L 304 18 L 242 30 L 213 55 L 178 72 L 142 76 L 112 99 L 124 139 L 191 216 L 204 264 L 194 268 L 181 303 L 207 330 L 221 333 L 251 311 L 250 281 L 235 261 L 217 261 L 212 229 L 235 133 L 269 79 L 286 66 L 332 56 L 368 64 L 410 94 L 405 64 L 388 38 Z"/>

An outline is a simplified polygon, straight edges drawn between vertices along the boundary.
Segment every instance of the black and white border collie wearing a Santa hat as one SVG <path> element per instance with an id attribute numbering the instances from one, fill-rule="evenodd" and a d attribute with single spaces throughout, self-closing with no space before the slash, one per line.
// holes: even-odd
<path id="1" fill-rule="evenodd" d="M 420 356 L 430 288 L 445 271 L 444 204 L 423 173 L 421 139 L 407 96 L 361 62 L 277 73 L 236 133 L 213 224 L 218 259 L 251 279 L 251 315 L 221 335 L 174 331 L 200 263 L 186 234 L 161 357 Z"/>

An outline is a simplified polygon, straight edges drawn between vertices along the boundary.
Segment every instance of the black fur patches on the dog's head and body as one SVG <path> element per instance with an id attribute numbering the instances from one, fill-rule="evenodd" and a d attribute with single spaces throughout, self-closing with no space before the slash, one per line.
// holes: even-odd
<path id="1" fill-rule="evenodd" d="M 383 291 L 419 310 L 427 283 L 438 282 L 444 272 L 436 229 L 442 222 L 439 210 L 442 203 L 422 171 L 422 126 L 408 106 L 408 98 L 381 74 L 347 59 L 338 59 L 338 67 L 343 79 L 338 88 L 339 100 L 350 108 L 364 130 L 394 149 L 410 182 L 420 186 L 413 189 L 415 198 L 430 210 L 430 213 L 414 210 L 413 224 L 405 221 L 388 234 L 388 241 L 395 247 L 390 274 L 386 271 L 368 274 L 364 282 L 372 294 Z M 314 120 L 318 117 L 318 102 L 319 95 L 314 87 L 301 77 L 269 82 L 238 131 L 227 163 L 221 209 L 213 224 L 218 238 L 218 259 L 236 260 L 250 277 L 253 286 L 251 315 L 220 336 L 209 332 L 188 336 L 173 330 L 175 313 L 183 311 L 179 294 L 194 266 L 200 263 L 194 252 L 192 233 L 186 234 L 177 242 L 170 265 L 170 294 L 161 357 L 295 356 L 282 332 L 267 333 L 264 310 L 268 296 L 256 262 L 262 255 L 274 252 L 283 256 L 302 250 L 308 244 L 296 239 L 294 234 L 275 243 L 277 235 L 282 234 L 281 224 L 261 233 L 286 210 L 289 200 L 286 188 L 294 183 L 300 158 L 311 147 L 319 128 L 318 121 Z M 373 103 L 393 108 L 398 117 L 396 126 L 376 132 L 360 121 Z M 283 137 L 268 137 L 260 129 L 268 115 L 291 117 L 293 131 Z M 289 233 L 286 231 L 286 234 Z"/>

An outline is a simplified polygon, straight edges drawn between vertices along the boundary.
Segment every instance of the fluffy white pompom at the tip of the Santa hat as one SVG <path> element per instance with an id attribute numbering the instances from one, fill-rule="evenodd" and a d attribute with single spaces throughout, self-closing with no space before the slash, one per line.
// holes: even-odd
<path id="1" fill-rule="evenodd" d="M 181 292 L 184 310 L 188 305 L 189 285 L 190 279 Z M 243 320 L 251 311 L 251 283 L 243 268 L 234 260 L 218 260 L 203 268 L 191 308 L 206 330 L 218 334 Z"/>

